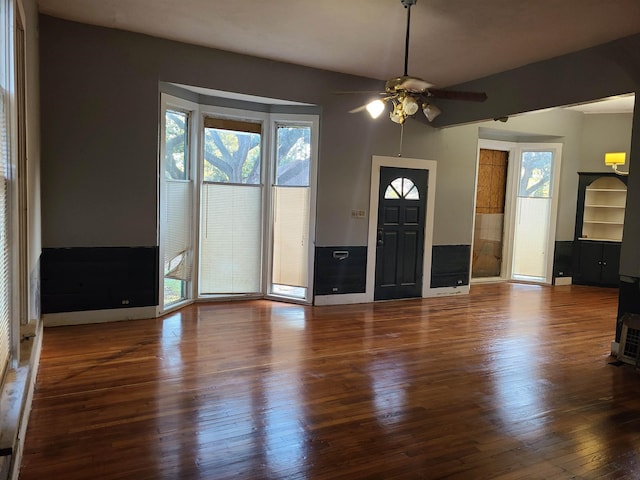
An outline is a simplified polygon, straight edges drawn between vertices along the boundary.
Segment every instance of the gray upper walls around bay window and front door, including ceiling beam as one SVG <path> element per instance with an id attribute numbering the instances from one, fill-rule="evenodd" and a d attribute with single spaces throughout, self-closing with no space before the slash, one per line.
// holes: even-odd
<path id="1" fill-rule="evenodd" d="M 348 114 L 366 96 L 335 92 L 376 90 L 382 82 L 47 16 L 41 40 L 44 246 L 157 244 L 161 81 L 319 105 L 317 245 L 366 245 L 367 224 L 350 212 L 368 209 L 371 156 L 397 155 L 400 127 L 384 116 Z M 496 130 L 564 144 L 557 238 L 572 238 L 576 172 L 599 162 L 583 155 L 581 142 L 618 130 L 590 126 L 576 112 L 513 116 L 506 124 L 483 119 L 634 91 L 640 36 L 614 43 L 464 85 L 489 100 L 442 101 L 435 122 L 442 128 L 407 122 L 403 156 L 438 161 L 434 244 L 471 243 L 477 142 Z M 607 75 L 598 70 L 605 67 Z"/>

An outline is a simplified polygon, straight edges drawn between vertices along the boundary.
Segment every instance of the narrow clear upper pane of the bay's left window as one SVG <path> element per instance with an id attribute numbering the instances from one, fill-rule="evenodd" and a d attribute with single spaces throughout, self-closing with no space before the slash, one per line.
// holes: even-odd
<path id="1" fill-rule="evenodd" d="M 189 114 L 167 110 L 165 113 L 165 178 L 186 180 L 189 169 L 187 132 Z"/>

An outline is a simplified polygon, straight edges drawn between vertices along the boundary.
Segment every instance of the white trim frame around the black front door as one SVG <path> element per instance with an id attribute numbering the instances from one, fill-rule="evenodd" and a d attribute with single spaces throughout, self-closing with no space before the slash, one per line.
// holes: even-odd
<path id="1" fill-rule="evenodd" d="M 376 276 L 376 238 L 378 226 L 378 198 L 380 192 L 380 168 L 412 168 L 426 170 L 427 207 L 424 223 L 424 255 L 422 260 L 422 297 L 431 292 L 431 255 L 433 251 L 433 225 L 436 200 L 436 170 L 438 162 L 419 158 L 385 157 L 374 155 L 371 162 L 371 188 L 369 199 L 369 234 L 367 240 L 367 281 L 365 301 L 374 301 Z M 416 297 L 414 297 L 416 298 Z"/>

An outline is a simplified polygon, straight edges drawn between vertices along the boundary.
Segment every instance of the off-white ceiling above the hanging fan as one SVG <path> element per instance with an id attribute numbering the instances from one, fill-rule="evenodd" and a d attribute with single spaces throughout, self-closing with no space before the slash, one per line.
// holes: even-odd
<path id="1" fill-rule="evenodd" d="M 385 80 L 402 74 L 400 0 L 38 0 L 42 13 Z M 437 87 L 640 32 L 639 0 L 418 0 L 409 74 Z"/>

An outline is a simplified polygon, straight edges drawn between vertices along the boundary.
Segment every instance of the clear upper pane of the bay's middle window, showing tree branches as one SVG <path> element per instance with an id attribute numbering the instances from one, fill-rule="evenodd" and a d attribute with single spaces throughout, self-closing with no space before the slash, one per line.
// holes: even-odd
<path id="1" fill-rule="evenodd" d="M 260 183 L 260 134 L 204 129 L 204 181 Z"/>

